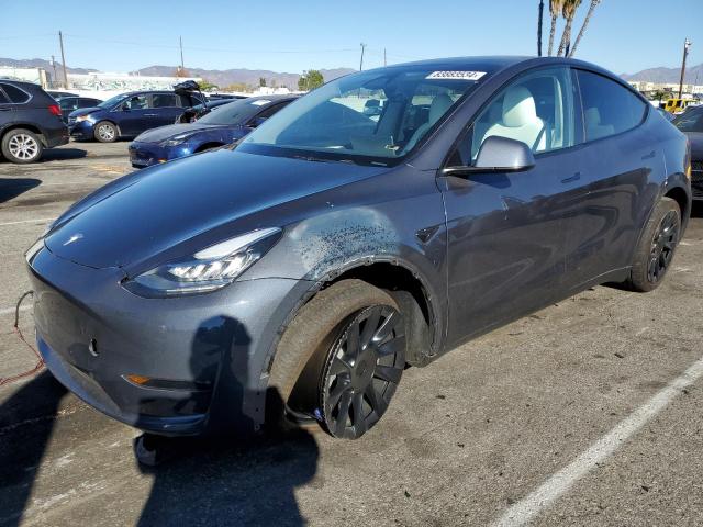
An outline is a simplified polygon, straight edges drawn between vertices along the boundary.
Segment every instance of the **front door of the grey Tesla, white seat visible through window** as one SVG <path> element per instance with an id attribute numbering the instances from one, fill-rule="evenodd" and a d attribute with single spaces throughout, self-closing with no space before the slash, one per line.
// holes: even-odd
<path id="1" fill-rule="evenodd" d="M 524 172 L 440 177 L 448 228 L 449 344 L 562 296 L 565 222 L 583 190 L 574 175 L 569 69 L 523 75 L 488 103 L 449 165 L 471 165 L 489 136 L 521 141 Z"/>

